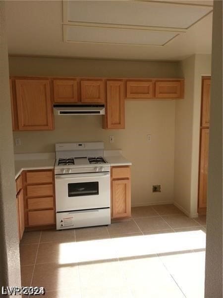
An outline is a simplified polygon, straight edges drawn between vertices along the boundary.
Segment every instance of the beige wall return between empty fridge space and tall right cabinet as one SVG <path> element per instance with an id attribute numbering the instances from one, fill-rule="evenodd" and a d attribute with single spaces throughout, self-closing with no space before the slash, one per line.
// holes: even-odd
<path id="1" fill-rule="evenodd" d="M 211 55 L 193 55 L 181 62 L 185 98 L 175 107 L 174 203 L 197 216 L 201 81 L 211 75 Z"/>

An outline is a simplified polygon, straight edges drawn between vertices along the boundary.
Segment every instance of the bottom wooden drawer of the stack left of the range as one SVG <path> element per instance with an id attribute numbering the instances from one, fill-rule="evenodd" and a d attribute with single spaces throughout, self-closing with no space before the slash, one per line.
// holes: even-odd
<path id="1" fill-rule="evenodd" d="M 29 211 L 29 225 L 55 224 L 54 210 Z"/>

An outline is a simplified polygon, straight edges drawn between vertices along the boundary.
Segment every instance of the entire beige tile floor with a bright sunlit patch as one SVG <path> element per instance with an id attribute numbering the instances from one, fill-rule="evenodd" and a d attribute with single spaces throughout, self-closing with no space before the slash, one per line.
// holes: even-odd
<path id="1" fill-rule="evenodd" d="M 132 208 L 109 226 L 26 232 L 22 286 L 46 298 L 203 298 L 206 217 Z"/>

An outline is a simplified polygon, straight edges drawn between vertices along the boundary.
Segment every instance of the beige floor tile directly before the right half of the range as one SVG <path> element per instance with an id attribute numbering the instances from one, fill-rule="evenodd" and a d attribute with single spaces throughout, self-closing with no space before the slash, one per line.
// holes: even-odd
<path id="1" fill-rule="evenodd" d="M 76 240 L 83 238 L 97 239 L 109 238 L 109 233 L 106 226 L 93 226 L 75 229 Z"/>

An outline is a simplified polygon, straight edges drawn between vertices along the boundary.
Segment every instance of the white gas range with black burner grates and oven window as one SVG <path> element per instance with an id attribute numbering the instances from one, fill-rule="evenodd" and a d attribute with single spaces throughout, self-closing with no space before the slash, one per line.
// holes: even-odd
<path id="1" fill-rule="evenodd" d="M 56 144 L 56 229 L 111 224 L 104 143 Z"/>

